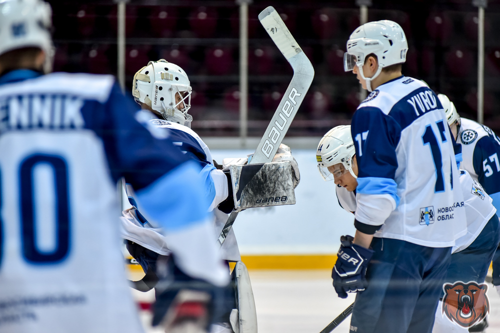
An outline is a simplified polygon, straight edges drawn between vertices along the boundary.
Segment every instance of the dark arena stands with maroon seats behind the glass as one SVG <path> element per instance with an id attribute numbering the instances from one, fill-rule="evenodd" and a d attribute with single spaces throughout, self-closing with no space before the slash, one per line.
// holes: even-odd
<path id="1" fill-rule="evenodd" d="M 116 4 L 48 1 L 54 70 L 116 74 Z M 272 5 L 315 68 L 288 135 L 321 136 L 348 124 L 359 84 L 343 71 L 345 42 L 359 25 L 354 0 L 262 1 L 249 6 L 249 135 L 260 136 L 291 80 L 291 67 L 258 22 Z M 500 0 L 485 10 L 484 122 L 500 131 Z M 373 0 L 368 21 L 390 19 L 406 33 L 403 74 L 445 93 L 462 117 L 476 119 L 477 8 L 471 0 Z M 149 60 L 181 66 L 193 88 L 192 128 L 202 136 L 238 135 L 239 7 L 233 0 L 132 0 L 126 8 L 126 90 Z"/>

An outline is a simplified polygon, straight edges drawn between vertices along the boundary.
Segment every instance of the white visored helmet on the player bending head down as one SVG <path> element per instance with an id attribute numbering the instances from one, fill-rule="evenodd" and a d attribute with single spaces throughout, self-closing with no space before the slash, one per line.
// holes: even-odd
<path id="1" fill-rule="evenodd" d="M 328 167 L 342 163 L 345 170 L 357 178 L 352 171 L 352 156 L 356 153 L 350 125 L 340 125 L 330 129 L 319 141 L 316 150 L 317 169 L 324 181 L 333 180 Z"/>

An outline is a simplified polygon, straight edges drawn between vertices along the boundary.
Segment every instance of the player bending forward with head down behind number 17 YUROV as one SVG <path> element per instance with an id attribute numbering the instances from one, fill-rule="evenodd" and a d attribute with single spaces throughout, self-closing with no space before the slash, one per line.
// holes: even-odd
<path id="1" fill-rule="evenodd" d="M 332 128 L 319 142 L 318 147 L 321 146 L 328 148 L 316 153 L 319 173 L 323 180 L 334 181 L 340 206 L 348 212 L 355 212 L 358 171 L 350 126 Z M 496 209 L 491 204 L 492 199 L 463 170 L 460 170 L 460 188 L 464 199 L 467 234 L 456 240 L 451 249 L 451 262 L 444 283 L 453 285 L 461 281 L 480 285 L 484 282 L 493 253 L 500 242 L 500 224 L 495 214 Z M 441 300 L 442 297 L 443 294 Z M 470 316 L 472 308 L 473 306 L 463 316 Z M 439 301 L 432 332 L 467 332 L 467 328 L 448 320 L 442 313 L 442 303 Z"/>

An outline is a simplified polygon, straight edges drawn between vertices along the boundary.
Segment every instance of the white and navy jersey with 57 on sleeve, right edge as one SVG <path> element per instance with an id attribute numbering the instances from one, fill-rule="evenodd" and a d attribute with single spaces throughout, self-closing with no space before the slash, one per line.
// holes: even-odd
<path id="1" fill-rule="evenodd" d="M 500 209 L 500 138 L 487 126 L 461 118 L 457 143 L 462 146 L 461 168 L 477 180 Z"/>

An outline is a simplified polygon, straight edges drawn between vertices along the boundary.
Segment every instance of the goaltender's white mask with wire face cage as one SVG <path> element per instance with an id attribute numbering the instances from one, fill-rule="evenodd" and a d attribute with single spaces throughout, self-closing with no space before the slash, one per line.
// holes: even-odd
<path id="1" fill-rule="evenodd" d="M 182 98 L 178 103 L 175 94 Z M 191 127 L 191 86 L 182 68 L 165 59 L 149 61 L 133 76 L 132 95 L 135 101 L 158 111 L 163 118 Z M 183 107 L 182 107 L 183 105 Z"/>

